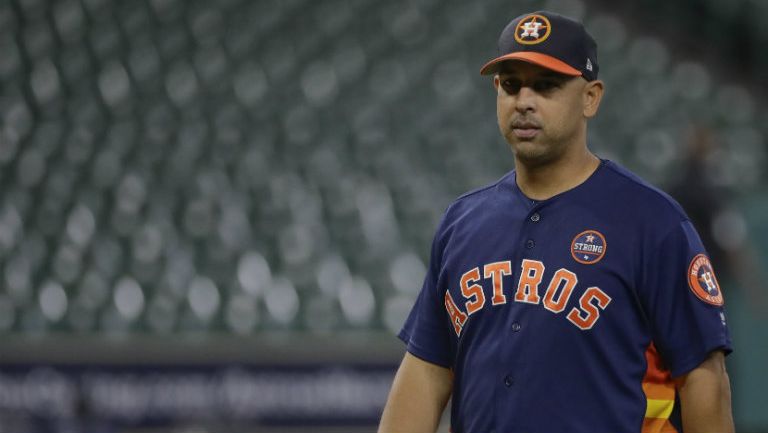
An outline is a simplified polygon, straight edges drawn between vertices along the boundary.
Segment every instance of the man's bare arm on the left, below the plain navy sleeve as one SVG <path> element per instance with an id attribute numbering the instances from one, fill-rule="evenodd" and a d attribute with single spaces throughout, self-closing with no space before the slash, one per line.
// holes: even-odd
<path id="1" fill-rule="evenodd" d="M 379 433 L 434 433 L 452 387 L 451 370 L 406 352 L 389 392 Z"/>

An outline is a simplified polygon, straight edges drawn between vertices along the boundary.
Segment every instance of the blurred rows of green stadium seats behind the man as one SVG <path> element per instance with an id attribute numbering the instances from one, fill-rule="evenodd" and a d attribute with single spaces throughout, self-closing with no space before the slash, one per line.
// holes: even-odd
<path id="1" fill-rule="evenodd" d="M 442 211 L 512 166 L 478 71 L 539 8 L 599 42 L 600 156 L 663 184 L 707 122 L 767 202 L 749 83 L 588 1 L 9 0 L 0 338 L 396 333 Z"/>

